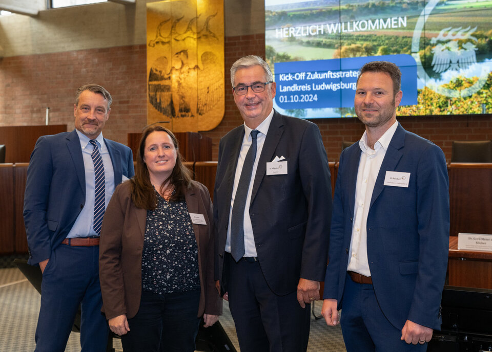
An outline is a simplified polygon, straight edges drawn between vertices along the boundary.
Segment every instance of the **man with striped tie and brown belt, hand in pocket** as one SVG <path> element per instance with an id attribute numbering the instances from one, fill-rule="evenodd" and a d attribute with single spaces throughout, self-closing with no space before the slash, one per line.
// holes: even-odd
<path id="1" fill-rule="evenodd" d="M 82 351 L 105 351 L 101 314 L 99 230 L 116 185 L 133 177 L 132 151 L 103 138 L 111 95 L 79 87 L 75 130 L 40 137 L 31 154 L 24 195 L 29 263 L 43 273 L 36 351 L 64 351 L 81 306 Z M 101 163 L 103 164 L 101 166 Z"/>

